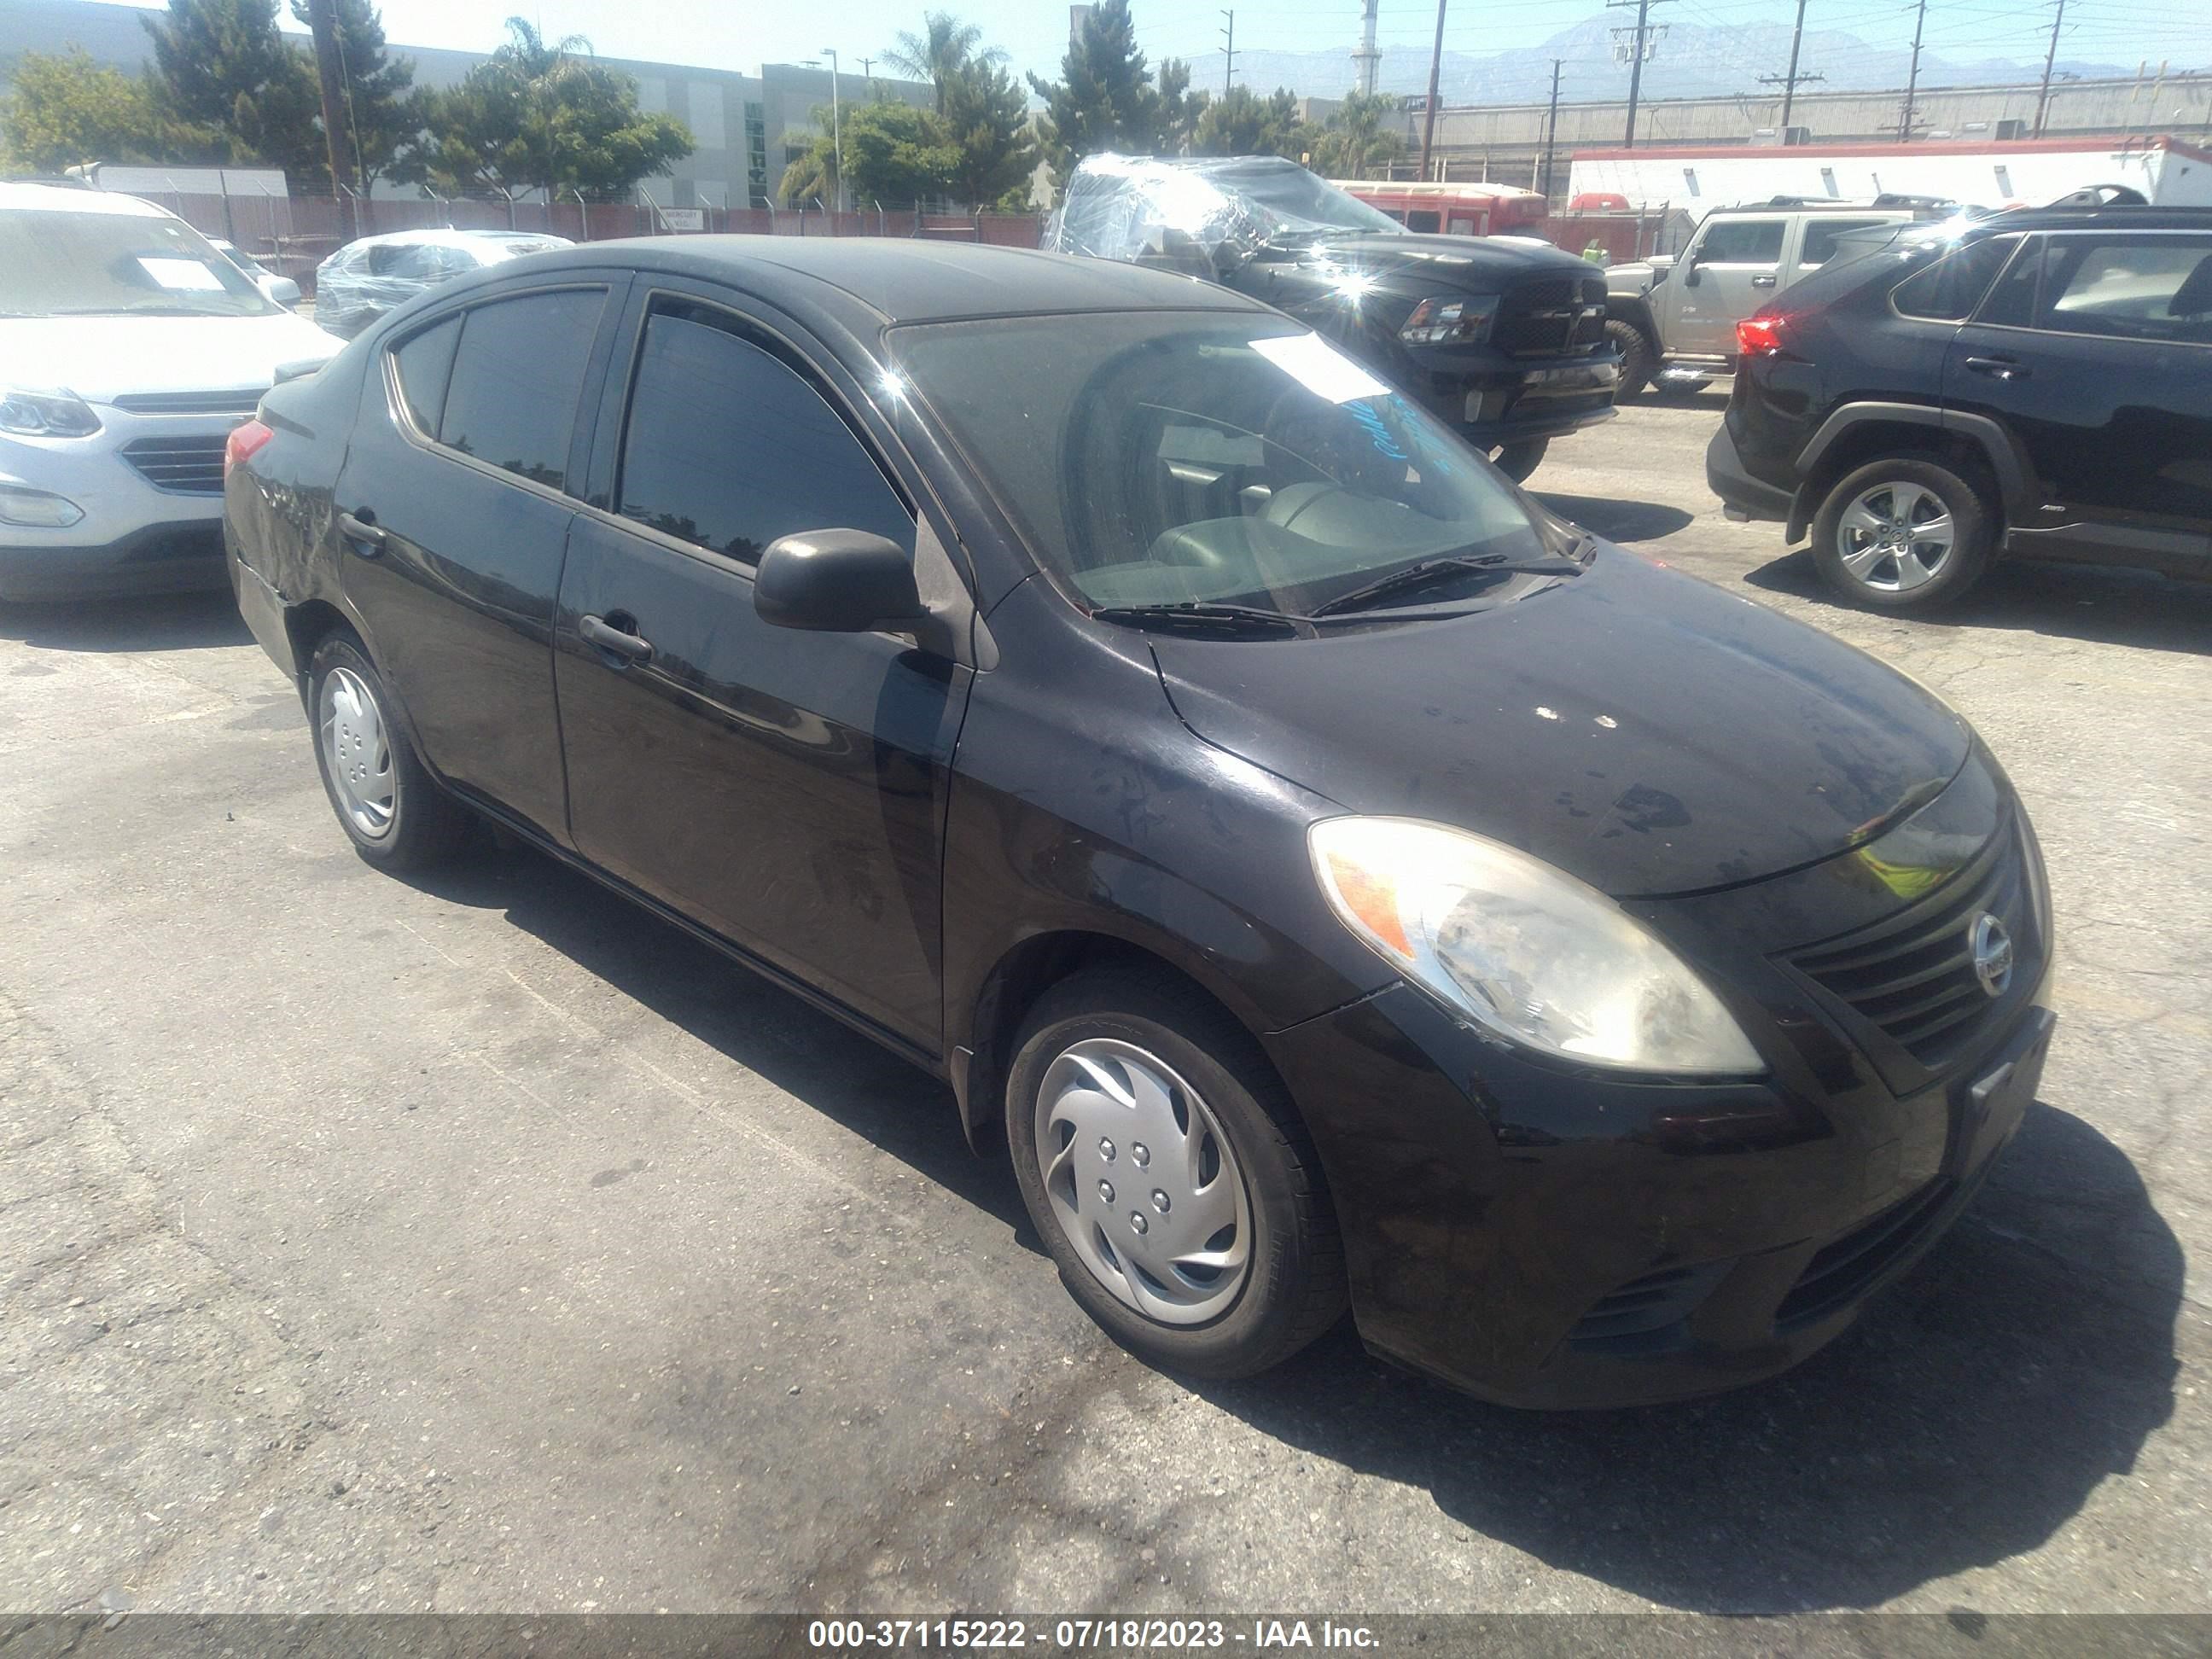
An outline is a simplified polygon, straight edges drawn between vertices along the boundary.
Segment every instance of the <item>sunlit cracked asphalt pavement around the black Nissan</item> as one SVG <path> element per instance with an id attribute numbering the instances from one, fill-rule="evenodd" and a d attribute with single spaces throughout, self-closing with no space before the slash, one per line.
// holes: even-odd
<path id="1" fill-rule="evenodd" d="M 363 865 L 226 597 L 0 608 L 4 1604 L 2208 1610 L 2212 586 L 1838 608 L 1719 515 L 1717 409 L 1533 484 L 1955 703 L 2057 907 L 2039 1104 L 1818 1358 L 1157 1376 L 945 1086 L 542 856 Z"/>

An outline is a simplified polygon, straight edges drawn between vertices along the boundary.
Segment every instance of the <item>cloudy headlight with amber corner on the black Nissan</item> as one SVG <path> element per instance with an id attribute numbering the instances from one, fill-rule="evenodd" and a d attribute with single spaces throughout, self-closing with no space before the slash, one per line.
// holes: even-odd
<path id="1" fill-rule="evenodd" d="M 1500 1037 L 1621 1071 L 1765 1071 L 1650 929 L 1524 852 L 1418 818 L 1327 818 L 1307 847 L 1345 927 Z"/>

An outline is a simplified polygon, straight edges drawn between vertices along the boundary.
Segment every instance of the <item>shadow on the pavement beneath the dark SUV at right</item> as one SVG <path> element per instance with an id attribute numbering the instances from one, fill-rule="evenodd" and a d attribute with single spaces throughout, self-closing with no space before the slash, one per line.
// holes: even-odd
<path id="1" fill-rule="evenodd" d="M 1849 608 L 1820 580 L 1809 549 L 1783 553 L 1745 571 L 1743 580 L 1767 593 Z M 2208 653 L 2212 582 L 2179 582 L 2157 571 L 2108 564 L 2013 562 L 1984 575 L 1949 608 L 1896 619 L 1929 628 L 2017 628 L 2099 646 Z"/>

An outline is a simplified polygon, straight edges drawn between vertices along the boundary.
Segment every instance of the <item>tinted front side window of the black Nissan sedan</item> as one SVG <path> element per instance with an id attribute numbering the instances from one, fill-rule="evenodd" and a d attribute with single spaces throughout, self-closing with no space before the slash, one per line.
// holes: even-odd
<path id="1" fill-rule="evenodd" d="M 622 515 L 739 564 L 852 529 L 914 553 L 914 515 L 836 409 L 706 305 L 646 321 L 622 436 Z"/>

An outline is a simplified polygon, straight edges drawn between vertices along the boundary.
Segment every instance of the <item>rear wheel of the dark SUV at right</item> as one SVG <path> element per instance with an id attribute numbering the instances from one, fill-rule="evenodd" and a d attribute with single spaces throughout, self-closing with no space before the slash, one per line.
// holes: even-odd
<path id="1" fill-rule="evenodd" d="M 1869 611 L 1933 611 L 1982 580 L 1997 540 L 1995 487 L 1927 456 L 1845 473 L 1812 522 L 1820 577 Z M 1942 531 L 1942 535 L 1936 535 Z"/>

